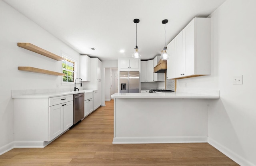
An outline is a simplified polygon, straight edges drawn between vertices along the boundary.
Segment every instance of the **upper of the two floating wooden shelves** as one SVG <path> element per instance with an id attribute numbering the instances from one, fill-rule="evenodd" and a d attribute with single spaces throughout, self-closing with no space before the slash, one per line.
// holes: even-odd
<path id="1" fill-rule="evenodd" d="M 55 59 L 57 61 L 65 60 L 63 57 L 55 55 L 54 53 L 46 51 L 46 50 L 44 50 L 44 49 L 42 49 L 42 48 L 40 48 L 36 45 L 33 45 L 31 43 L 18 43 L 18 46 L 22 47 L 22 48 L 25 48 L 25 49 L 28 49 L 30 51 L 39 53 L 39 54 L 44 55 L 46 57 L 50 57 L 50 58 Z"/>

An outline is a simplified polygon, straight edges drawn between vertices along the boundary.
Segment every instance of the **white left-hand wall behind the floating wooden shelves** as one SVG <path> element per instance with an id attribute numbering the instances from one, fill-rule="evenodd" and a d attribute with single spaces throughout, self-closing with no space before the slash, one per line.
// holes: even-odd
<path id="1" fill-rule="evenodd" d="M 61 62 L 17 46 L 30 42 L 61 55 L 61 50 L 79 63 L 79 53 L 46 32 L 40 26 L 0 0 L 0 154 L 12 148 L 14 141 L 14 110 L 11 90 L 71 88 L 61 85 L 61 77 L 19 71 L 18 66 L 31 66 L 61 72 Z M 33 124 L 32 124 L 33 125 Z"/>

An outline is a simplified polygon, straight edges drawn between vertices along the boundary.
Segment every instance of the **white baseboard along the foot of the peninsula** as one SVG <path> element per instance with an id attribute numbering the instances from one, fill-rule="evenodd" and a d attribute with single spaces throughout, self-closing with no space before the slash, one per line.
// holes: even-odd
<path id="1" fill-rule="evenodd" d="M 207 136 L 115 137 L 113 144 L 202 143 Z"/>

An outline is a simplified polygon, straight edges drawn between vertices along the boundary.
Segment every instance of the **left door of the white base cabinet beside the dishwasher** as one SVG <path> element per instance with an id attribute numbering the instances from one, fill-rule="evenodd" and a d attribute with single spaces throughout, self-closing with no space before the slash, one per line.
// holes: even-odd
<path id="1" fill-rule="evenodd" d="M 62 106 L 63 105 L 63 106 Z M 63 107 L 64 104 L 49 107 L 49 139 L 53 140 L 63 132 Z"/>

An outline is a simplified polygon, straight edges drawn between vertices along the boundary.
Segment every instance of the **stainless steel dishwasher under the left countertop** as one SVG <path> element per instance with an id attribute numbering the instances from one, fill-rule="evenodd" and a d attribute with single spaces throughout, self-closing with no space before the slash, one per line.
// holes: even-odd
<path id="1" fill-rule="evenodd" d="M 74 124 L 84 118 L 84 93 L 74 95 Z"/>

